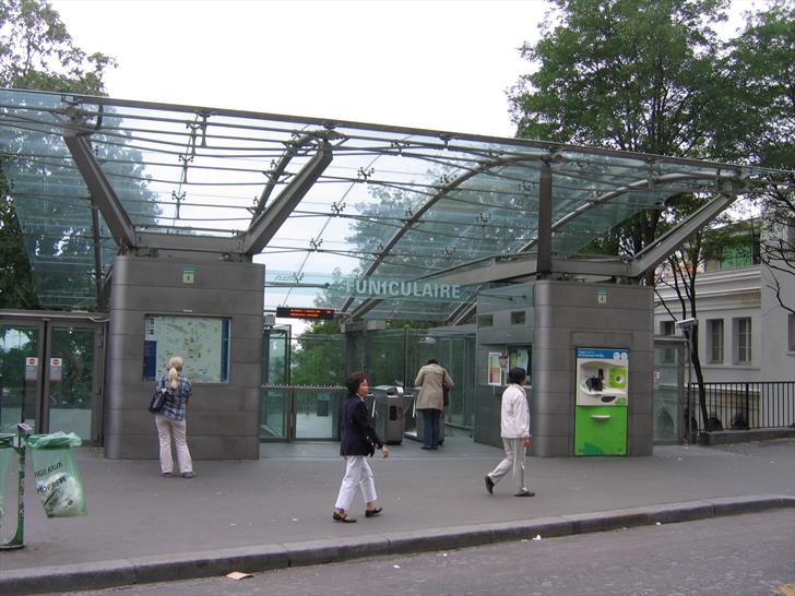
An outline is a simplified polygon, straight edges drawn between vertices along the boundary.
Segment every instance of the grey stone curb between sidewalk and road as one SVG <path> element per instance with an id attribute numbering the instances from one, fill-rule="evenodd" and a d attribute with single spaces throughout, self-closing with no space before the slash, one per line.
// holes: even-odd
<path id="1" fill-rule="evenodd" d="M 0 592 L 41 594 L 195 580 L 226 575 L 236 570 L 246 570 L 249 573 L 262 572 L 378 555 L 406 555 L 483 546 L 531 539 L 537 535 L 554 538 L 656 523 L 690 522 L 779 508 L 795 508 L 795 497 L 780 494 L 724 497 L 518 522 L 15 569 L 0 574 Z"/>

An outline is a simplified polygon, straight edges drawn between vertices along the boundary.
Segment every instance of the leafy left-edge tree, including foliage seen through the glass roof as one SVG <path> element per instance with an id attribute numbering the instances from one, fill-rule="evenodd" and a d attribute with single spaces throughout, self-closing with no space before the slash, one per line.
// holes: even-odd
<path id="1" fill-rule="evenodd" d="M 88 55 L 80 49 L 46 1 L 0 0 L 1 86 L 105 95 L 103 76 L 114 65 L 115 61 L 103 53 Z M 44 110 L 48 103 L 51 98 L 26 96 L 26 116 L 35 115 L 39 106 Z M 49 118 L 45 111 L 35 117 Z M 117 128 L 116 140 L 130 135 L 120 124 L 112 109 L 104 111 L 103 130 Z M 17 265 L 3 271 L 0 305 L 90 308 L 117 247 L 102 216 L 96 226 L 92 223 L 90 196 L 74 167 L 58 158 L 13 157 L 16 153 L 28 154 L 29 146 L 46 147 L 43 153 L 48 155 L 66 154 L 58 134 L 13 128 L 5 134 L 3 151 L 8 157 L 0 163 L 0 252 L 7 255 L 4 262 Z M 159 208 L 147 189 L 141 153 L 121 143 L 96 144 L 93 148 L 128 213 L 139 224 L 153 223 Z M 46 180 L 51 191 L 47 191 L 46 201 L 32 200 L 25 196 L 24 183 L 10 188 L 9 180 L 13 179 Z M 121 186 L 123 191 L 119 190 Z M 25 250 L 37 262 L 35 277 Z M 95 251 L 99 253 L 98 267 Z M 79 264 L 70 269 L 67 261 Z M 51 263 L 49 270 L 47 263 Z"/>

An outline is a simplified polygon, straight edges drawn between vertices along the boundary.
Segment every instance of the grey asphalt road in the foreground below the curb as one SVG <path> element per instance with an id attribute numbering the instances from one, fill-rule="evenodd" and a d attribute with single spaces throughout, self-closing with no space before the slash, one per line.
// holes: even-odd
<path id="1" fill-rule="evenodd" d="M 74 594 L 795 596 L 795 510 Z"/>

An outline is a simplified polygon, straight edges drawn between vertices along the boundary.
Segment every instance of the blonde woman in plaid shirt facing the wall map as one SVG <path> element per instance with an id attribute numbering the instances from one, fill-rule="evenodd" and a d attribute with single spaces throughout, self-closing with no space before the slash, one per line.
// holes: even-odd
<path id="1" fill-rule="evenodd" d="M 158 386 L 166 389 L 163 409 L 155 414 L 157 437 L 161 441 L 161 475 L 170 476 L 174 468 L 171 458 L 171 436 L 177 445 L 177 460 L 182 478 L 193 477 L 193 462 L 186 441 L 185 407 L 193 388 L 182 377 L 182 359 L 174 356 L 168 360 L 168 373 L 164 374 Z"/>

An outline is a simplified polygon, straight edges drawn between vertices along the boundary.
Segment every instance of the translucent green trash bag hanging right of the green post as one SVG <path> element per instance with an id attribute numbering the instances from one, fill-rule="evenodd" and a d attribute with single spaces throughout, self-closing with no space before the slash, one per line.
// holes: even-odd
<path id="1" fill-rule="evenodd" d="M 36 492 L 47 517 L 85 515 L 85 496 L 71 448 L 82 440 L 75 433 L 31 434 Z"/>

